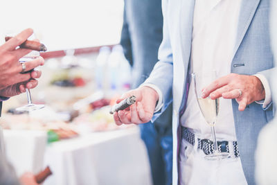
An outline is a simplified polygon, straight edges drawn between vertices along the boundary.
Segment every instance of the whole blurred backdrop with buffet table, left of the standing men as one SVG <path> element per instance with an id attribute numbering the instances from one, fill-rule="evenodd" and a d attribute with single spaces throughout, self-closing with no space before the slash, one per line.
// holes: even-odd
<path id="1" fill-rule="evenodd" d="M 43 184 L 152 184 L 139 128 L 117 126 L 108 113 L 132 80 L 118 45 L 123 0 L 0 5 L 0 44 L 7 33 L 33 28 L 48 48 L 42 78 L 30 91 L 33 103 L 46 107 L 17 112 L 26 94 L 3 103 L 6 155 L 17 175 L 48 166 L 52 175 Z"/>

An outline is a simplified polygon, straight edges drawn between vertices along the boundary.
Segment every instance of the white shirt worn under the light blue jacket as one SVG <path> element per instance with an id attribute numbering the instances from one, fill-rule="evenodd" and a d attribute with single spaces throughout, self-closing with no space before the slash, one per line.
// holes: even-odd
<path id="1" fill-rule="evenodd" d="M 195 1 L 190 71 L 215 71 L 219 78 L 231 73 L 240 3 L 241 0 Z M 193 83 L 190 83 L 186 107 L 181 116 L 181 125 L 191 128 L 203 139 L 211 139 L 211 127 L 200 112 Z M 215 130 L 218 140 L 236 141 L 230 99 L 220 98 L 220 112 Z"/>

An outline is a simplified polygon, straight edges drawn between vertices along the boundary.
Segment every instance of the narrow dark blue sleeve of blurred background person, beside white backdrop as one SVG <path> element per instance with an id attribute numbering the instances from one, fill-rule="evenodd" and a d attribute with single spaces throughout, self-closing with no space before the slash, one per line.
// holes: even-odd
<path id="1" fill-rule="evenodd" d="M 120 44 L 123 46 L 123 52 L 125 58 L 128 60 L 131 67 L 133 66 L 133 55 L 132 55 L 132 42 L 129 34 L 129 26 L 126 17 L 126 6 L 124 7 L 124 15 L 123 15 L 123 28 L 121 31 L 121 39 Z"/>

